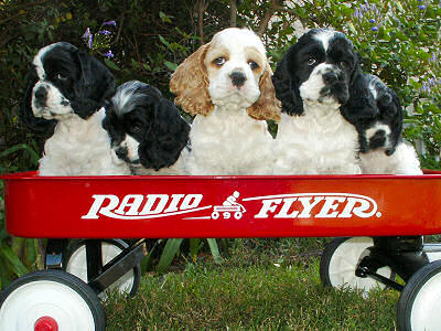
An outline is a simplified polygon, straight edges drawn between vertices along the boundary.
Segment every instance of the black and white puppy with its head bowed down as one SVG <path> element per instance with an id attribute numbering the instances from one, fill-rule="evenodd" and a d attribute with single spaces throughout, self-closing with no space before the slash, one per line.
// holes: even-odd
<path id="1" fill-rule="evenodd" d="M 185 174 L 191 127 L 158 88 L 138 81 L 119 86 L 103 126 L 135 174 Z"/>

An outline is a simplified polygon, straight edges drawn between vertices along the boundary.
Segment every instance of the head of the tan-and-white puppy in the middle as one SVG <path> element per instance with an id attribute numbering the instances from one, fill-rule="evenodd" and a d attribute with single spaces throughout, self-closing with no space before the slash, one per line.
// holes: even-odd
<path id="1" fill-rule="evenodd" d="M 192 115 L 207 115 L 219 105 L 247 108 L 257 119 L 278 119 L 271 75 L 260 39 L 250 30 L 229 28 L 178 67 L 170 89 Z"/>

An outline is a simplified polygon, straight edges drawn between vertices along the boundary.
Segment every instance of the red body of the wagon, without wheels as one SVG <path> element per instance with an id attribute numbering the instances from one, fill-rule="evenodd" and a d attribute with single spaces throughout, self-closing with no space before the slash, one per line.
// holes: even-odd
<path id="1" fill-rule="evenodd" d="M 390 236 L 441 233 L 441 172 L 424 175 L 6 174 L 8 233 L 45 238 Z M 233 192 L 245 209 L 212 213 Z M 237 194 L 236 193 L 236 194 Z M 229 215 L 229 216 L 228 216 Z M 228 216 L 228 217 L 226 217 Z"/>

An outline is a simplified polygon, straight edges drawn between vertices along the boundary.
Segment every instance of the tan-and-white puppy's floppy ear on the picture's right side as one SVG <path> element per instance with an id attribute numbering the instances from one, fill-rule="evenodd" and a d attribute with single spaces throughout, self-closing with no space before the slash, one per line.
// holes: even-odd
<path id="1" fill-rule="evenodd" d="M 260 97 L 247 109 L 248 115 L 255 119 L 273 119 L 276 121 L 280 119 L 280 102 L 276 98 L 271 76 L 272 71 L 267 63 L 259 82 Z"/>

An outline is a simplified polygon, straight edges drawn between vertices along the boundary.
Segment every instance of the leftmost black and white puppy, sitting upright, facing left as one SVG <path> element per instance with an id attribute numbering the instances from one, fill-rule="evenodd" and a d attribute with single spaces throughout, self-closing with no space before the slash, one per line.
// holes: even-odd
<path id="1" fill-rule="evenodd" d="M 26 88 L 21 117 L 36 131 L 53 135 L 45 141 L 40 175 L 129 174 L 112 156 L 101 122 L 105 103 L 116 82 L 104 64 L 69 43 L 39 51 Z"/>

